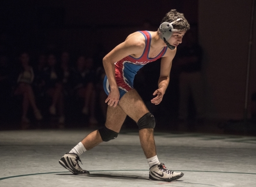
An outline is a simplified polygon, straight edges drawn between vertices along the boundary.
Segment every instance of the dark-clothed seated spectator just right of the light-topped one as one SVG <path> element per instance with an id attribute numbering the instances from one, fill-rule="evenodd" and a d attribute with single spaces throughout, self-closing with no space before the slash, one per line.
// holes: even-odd
<path id="1" fill-rule="evenodd" d="M 56 107 L 59 112 L 59 127 L 64 127 L 64 96 L 63 96 L 63 76 L 61 69 L 57 66 L 56 56 L 53 54 L 47 57 L 47 66 L 42 72 L 42 81 L 46 95 L 52 98 L 49 108 L 51 115 L 56 115 Z"/>

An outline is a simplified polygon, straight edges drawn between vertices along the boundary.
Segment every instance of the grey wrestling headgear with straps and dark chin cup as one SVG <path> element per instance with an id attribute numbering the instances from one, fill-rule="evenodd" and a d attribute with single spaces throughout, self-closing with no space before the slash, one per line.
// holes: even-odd
<path id="1" fill-rule="evenodd" d="M 173 34 L 173 32 L 178 32 L 178 29 L 174 29 L 174 27 L 172 26 L 173 23 L 179 21 L 179 20 L 183 20 L 182 18 L 178 18 L 177 20 L 174 20 L 171 23 L 168 22 L 164 22 L 159 26 L 159 36 L 162 40 L 164 40 L 165 44 L 168 46 L 169 49 L 174 50 L 175 46 L 172 46 L 170 43 L 168 43 L 167 41 L 170 39 L 171 35 Z"/>

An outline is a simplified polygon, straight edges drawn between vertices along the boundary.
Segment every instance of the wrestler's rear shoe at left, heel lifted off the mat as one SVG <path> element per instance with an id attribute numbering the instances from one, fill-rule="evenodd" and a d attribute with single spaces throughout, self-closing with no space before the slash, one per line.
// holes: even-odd
<path id="1" fill-rule="evenodd" d="M 68 152 L 62 156 L 62 158 L 59 160 L 59 164 L 74 173 L 74 175 L 89 175 L 90 173 L 88 171 L 82 170 L 78 164 L 78 161 L 81 162 L 79 156 L 76 153 Z"/>

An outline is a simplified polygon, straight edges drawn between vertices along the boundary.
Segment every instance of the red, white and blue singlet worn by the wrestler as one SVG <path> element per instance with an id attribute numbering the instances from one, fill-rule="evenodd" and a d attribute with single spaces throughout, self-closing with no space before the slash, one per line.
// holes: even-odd
<path id="1" fill-rule="evenodd" d="M 141 69 L 145 64 L 156 61 L 165 55 L 167 46 L 157 55 L 155 58 L 148 58 L 148 53 L 150 50 L 151 35 L 147 31 L 141 32 L 145 39 L 146 45 L 143 54 L 140 58 L 133 58 L 132 56 L 127 56 L 118 62 L 115 62 L 115 78 L 120 92 L 120 98 L 128 92 L 130 89 L 133 89 L 133 80 L 138 70 Z M 103 87 L 107 95 L 110 92 L 109 81 L 105 76 Z"/>

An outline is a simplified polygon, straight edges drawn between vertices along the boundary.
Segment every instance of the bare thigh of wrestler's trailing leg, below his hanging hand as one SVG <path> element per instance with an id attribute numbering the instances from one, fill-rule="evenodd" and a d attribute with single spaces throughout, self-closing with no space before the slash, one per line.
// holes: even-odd
<path id="1" fill-rule="evenodd" d="M 119 105 L 116 107 L 108 106 L 105 126 L 115 132 L 119 132 L 127 114 Z"/>

